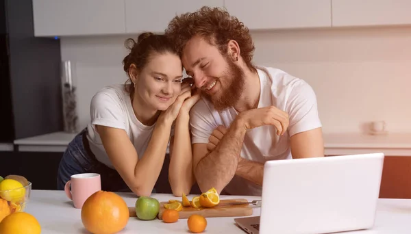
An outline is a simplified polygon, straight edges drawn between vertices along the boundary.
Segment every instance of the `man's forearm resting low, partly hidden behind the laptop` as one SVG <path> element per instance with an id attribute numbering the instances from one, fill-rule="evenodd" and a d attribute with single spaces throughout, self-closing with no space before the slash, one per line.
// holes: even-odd
<path id="1" fill-rule="evenodd" d="M 247 179 L 247 181 L 251 181 L 258 185 L 262 185 L 262 177 L 264 175 L 264 164 L 260 164 L 256 161 L 241 159 L 238 162 L 236 175 L 244 179 Z"/>

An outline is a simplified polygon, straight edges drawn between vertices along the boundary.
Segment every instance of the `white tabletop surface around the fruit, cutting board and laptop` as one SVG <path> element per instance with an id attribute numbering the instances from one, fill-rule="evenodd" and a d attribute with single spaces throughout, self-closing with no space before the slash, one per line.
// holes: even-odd
<path id="1" fill-rule="evenodd" d="M 136 203 L 134 194 L 119 193 L 129 207 Z M 169 194 L 153 194 L 160 202 L 174 198 Z M 195 195 L 190 195 L 191 198 Z M 221 196 L 221 198 L 246 198 L 256 200 L 256 196 Z M 75 209 L 73 203 L 66 197 L 64 191 L 32 190 L 27 213 L 34 215 L 42 226 L 42 234 L 51 233 L 87 233 L 81 220 L 81 209 Z M 259 216 L 260 208 L 253 208 L 252 216 Z M 379 199 L 375 225 L 373 229 L 345 233 L 358 234 L 402 234 L 411 230 L 411 200 L 410 199 Z M 239 233 L 245 232 L 234 224 L 234 217 L 207 218 L 206 233 Z M 141 221 L 130 218 L 121 233 L 189 233 L 187 220 L 182 219 L 173 224 L 165 224 L 161 220 Z"/>

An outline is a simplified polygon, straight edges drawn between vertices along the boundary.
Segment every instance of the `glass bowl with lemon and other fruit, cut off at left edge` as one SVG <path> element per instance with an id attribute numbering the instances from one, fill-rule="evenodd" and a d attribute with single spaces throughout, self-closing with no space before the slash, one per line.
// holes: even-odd
<path id="1" fill-rule="evenodd" d="M 10 213 L 24 211 L 29 181 L 25 177 L 10 174 L 0 177 L 0 222 Z"/>

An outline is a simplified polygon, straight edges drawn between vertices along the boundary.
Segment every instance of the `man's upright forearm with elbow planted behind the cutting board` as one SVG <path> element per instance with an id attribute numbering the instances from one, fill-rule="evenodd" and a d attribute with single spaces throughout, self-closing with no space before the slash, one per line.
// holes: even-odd
<path id="1" fill-rule="evenodd" d="M 240 121 L 234 121 L 214 151 L 199 161 L 195 177 L 201 191 L 214 187 L 220 193 L 233 179 L 245 132 L 244 125 Z"/>

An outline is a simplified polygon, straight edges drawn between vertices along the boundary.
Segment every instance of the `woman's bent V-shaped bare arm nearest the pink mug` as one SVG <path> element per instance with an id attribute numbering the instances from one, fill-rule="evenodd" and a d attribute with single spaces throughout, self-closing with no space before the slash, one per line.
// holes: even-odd
<path id="1" fill-rule="evenodd" d="M 114 168 L 132 192 L 138 196 L 150 196 L 160 175 L 169 142 L 171 123 L 159 118 L 149 145 L 140 160 L 134 145 L 123 129 L 96 126 Z"/>

